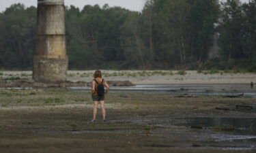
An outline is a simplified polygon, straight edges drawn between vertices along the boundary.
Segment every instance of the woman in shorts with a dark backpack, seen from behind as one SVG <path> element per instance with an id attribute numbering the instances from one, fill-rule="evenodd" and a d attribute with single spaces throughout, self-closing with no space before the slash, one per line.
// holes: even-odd
<path id="1" fill-rule="evenodd" d="M 100 92 L 102 92 L 102 91 L 99 91 L 100 89 L 98 88 L 98 86 L 102 86 L 100 84 L 102 84 L 103 86 L 106 87 L 106 92 L 103 92 L 102 95 L 100 94 Z M 101 71 L 99 71 L 99 70 L 95 71 L 94 72 L 94 80 L 92 80 L 92 82 L 91 82 L 91 98 L 94 101 L 94 118 L 91 120 L 91 122 L 96 121 L 97 107 L 98 107 L 99 101 L 100 101 L 100 107 L 102 109 L 103 122 L 106 121 L 106 110 L 104 107 L 104 97 L 107 94 L 107 92 L 109 92 L 109 84 L 107 84 L 106 81 L 104 79 L 102 79 Z"/>

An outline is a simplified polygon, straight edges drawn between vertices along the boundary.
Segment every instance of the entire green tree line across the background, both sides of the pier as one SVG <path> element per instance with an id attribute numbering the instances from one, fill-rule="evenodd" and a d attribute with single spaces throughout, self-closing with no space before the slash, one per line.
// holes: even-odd
<path id="1" fill-rule="evenodd" d="M 31 69 L 36 7 L 0 13 L 0 68 Z M 66 7 L 71 69 L 255 69 L 256 0 L 147 0 Z"/>

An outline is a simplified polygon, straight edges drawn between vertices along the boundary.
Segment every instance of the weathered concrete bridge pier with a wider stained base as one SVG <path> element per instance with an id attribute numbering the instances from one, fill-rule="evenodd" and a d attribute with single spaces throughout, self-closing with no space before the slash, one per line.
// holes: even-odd
<path id="1" fill-rule="evenodd" d="M 33 79 L 38 82 L 66 81 L 68 56 L 63 0 L 38 0 L 37 30 Z"/>

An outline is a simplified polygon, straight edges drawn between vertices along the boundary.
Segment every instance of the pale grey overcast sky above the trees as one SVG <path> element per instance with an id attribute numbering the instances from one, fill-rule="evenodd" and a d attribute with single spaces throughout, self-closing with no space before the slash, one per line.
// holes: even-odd
<path id="1" fill-rule="evenodd" d="M 75 5 L 76 7 L 83 8 L 84 5 L 104 5 L 108 3 L 109 6 L 125 7 L 128 10 L 141 11 L 143 9 L 146 0 L 65 0 L 65 5 Z M 248 0 L 242 0 L 248 1 Z M 9 7 L 13 3 L 23 3 L 26 6 L 36 6 L 37 0 L 1 0 L 0 12 L 3 12 L 6 7 Z"/>

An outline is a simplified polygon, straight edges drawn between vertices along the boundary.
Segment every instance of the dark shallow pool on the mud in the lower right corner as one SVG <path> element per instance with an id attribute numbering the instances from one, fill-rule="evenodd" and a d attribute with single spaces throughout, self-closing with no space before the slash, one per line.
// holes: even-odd
<path id="1" fill-rule="evenodd" d="M 199 145 L 197 148 L 256 150 L 256 118 L 171 118 L 167 124 L 186 126 L 193 130 L 192 133 L 186 133 L 186 137 L 196 139 Z M 169 135 L 175 135 L 175 132 L 171 131 Z"/>

